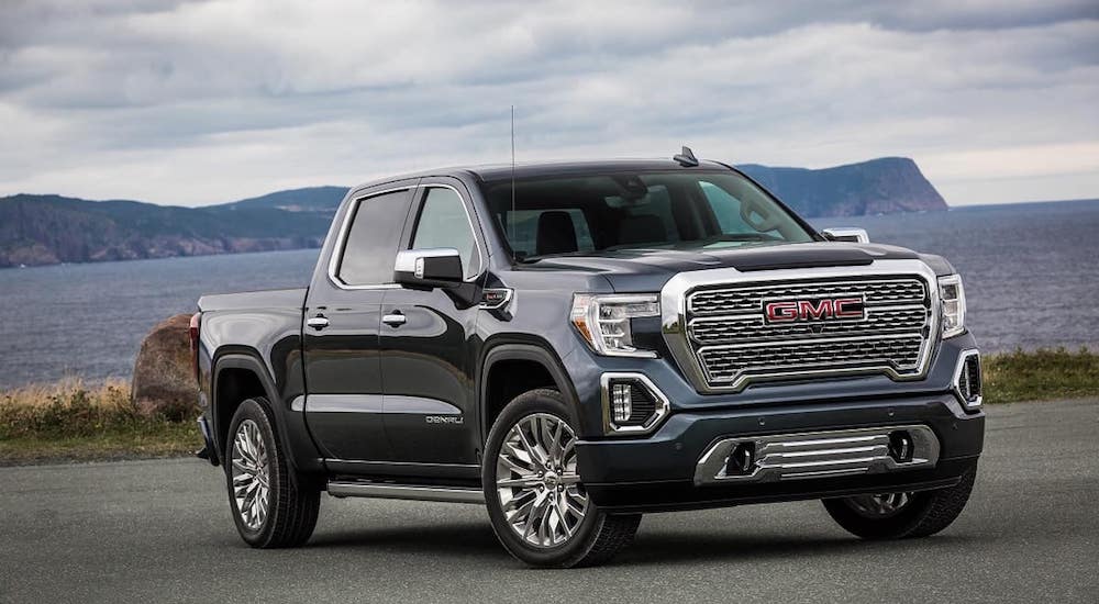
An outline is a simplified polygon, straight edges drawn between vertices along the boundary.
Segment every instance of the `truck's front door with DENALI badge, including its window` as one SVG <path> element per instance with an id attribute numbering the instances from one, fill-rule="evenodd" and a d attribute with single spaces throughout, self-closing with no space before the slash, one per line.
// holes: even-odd
<path id="1" fill-rule="evenodd" d="M 408 248 L 455 248 L 466 281 L 479 281 L 485 253 L 463 184 L 424 179 L 413 206 Z M 386 432 L 397 457 L 418 463 L 477 463 L 477 303 L 443 289 L 397 288 L 386 291 L 382 307 Z"/>

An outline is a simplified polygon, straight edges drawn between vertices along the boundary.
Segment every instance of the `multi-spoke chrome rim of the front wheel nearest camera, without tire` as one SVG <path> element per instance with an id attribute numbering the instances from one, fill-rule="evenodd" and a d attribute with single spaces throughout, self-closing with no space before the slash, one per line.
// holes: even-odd
<path id="1" fill-rule="evenodd" d="M 588 512 L 573 428 L 548 413 L 520 420 L 500 446 L 496 486 L 508 524 L 526 544 L 545 548 L 571 538 Z"/>

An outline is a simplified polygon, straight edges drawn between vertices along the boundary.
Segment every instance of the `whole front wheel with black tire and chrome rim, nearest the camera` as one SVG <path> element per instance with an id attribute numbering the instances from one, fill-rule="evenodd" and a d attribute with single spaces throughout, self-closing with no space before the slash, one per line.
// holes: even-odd
<path id="1" fill-rule="evenodd" d="M 630 545 L 641 524 L 641 514 L 608 514 L 587 495 L 571 449 L 576 425 L 559 392 L 532 390 L 508 403 L 489 432 L 481 480 L 492 529 L 509 553 L 532 567 L 603 563 Z M 532 440 L 533 430 L 545 430 L 541 441 Z M 557 456 L 554 441 L 560 450 Z M 532 446 L 525 447 L 526 443 Z M 529 452 L 532 449 L 534 454 Z M 548 459 L 552 467 L 531 462 L 535 456 Z M 539 472 L 542 477 L 535 478 Z M 500 485 L 498 479 L 508 482 Z"/>

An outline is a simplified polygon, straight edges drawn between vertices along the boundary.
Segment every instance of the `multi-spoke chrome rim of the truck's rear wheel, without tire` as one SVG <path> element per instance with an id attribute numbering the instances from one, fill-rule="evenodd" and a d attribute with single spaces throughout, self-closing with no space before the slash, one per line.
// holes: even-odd
<path id="1" fill-rule="evenodd" d="M 241 422 L 233 437 L 233 497 L 241 521 L 249 530 L 259 530 L 270 507 L 270 465 L 259 426 Z"/>

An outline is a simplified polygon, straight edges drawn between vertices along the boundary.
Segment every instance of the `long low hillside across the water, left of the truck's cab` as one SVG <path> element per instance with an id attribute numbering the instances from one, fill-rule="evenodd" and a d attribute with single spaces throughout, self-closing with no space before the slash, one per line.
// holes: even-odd
<path id="1" fill-rule="evenodd" d="M 0 267 L 318 247 L 329 216 L 19 194 L 0 199 Z"/>

